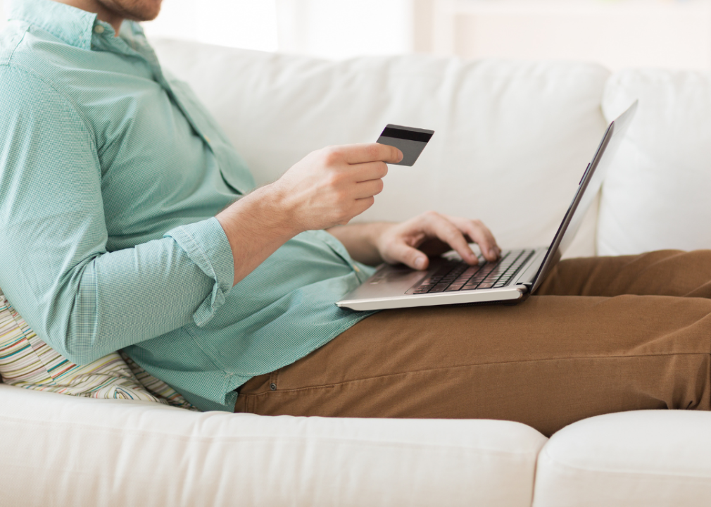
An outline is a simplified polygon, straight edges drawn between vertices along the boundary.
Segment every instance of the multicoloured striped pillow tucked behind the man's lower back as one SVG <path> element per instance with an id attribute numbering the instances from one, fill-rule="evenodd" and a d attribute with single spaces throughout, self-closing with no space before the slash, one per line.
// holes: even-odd
<path id="1" fill-rule="evenodd" d="M 127 361 L 124 361 L 127 359 Z M 0 292 L 0 375 L 4 383 L 38 391 L 117 400 L 142 400 L 196 410 L 128 356 L 111 353 L 75 365 L 42 341 Z"/>

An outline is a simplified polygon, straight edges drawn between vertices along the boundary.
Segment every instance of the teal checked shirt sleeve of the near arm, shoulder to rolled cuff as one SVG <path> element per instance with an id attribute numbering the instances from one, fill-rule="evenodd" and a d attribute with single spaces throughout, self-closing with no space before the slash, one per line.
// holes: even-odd
<path id="1" fill-rule="evenodd" d="M 38 336 L 82 364 L 206 324 L 234 279 L 218 220 L 107 252 L 90 124 L 17 68 L 0 67 L 0 97 L 0 287 Z"/>

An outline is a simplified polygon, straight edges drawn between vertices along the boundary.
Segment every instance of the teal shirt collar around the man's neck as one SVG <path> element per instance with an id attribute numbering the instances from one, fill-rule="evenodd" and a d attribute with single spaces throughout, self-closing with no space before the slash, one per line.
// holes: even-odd
<path id="1" fill-rule="evenodd" d="M 87 50 L 92 48 L 92 38 L 99 35 L 95 33 L 96 26 L 103 28 L 100 36 L 104 38 L 113 38 L 116 34 L 114 28 L 99 21 L 96 14 L 52 0 L 14 0 L 9 18 L 26 21 L 71 46 Z M 143 29 L 138 23 L 124 21 L 121 35 L 129 42 L 131 36 L 143 36 Z"/>

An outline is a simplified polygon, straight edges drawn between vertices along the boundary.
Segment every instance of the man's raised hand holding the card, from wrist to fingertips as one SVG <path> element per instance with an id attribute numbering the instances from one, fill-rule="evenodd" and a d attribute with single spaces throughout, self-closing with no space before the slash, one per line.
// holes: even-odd
<path id="1" fill-rule="evenodd" d="M 383 191 L 386 163 L 402 152 L 385 144 L 328 146 L 313 151 L 268 187 L 300 230 L 343 225 L 373 206 Z"/>

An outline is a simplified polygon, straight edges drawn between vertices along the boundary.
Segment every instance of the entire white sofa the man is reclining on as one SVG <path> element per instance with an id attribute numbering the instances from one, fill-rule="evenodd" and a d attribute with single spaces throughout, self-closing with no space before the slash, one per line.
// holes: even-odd
<path id="1" fill-rule="evenodd" d="M 328 63 L 156 41 L 257 181 L 312 149 L 434 129 L 359 220 L 434 208 L 504 247 L 550 241 L 606 124 L 640 109 L 570 255 L 711 247 L 711 82 L 587 63 L 424 56 Z M 711 329 L 709 330 L 711 332 Z M 708 506 L 711 413 L 515 422 L 188 412 L 0 385 L 0 507 Z"/>

